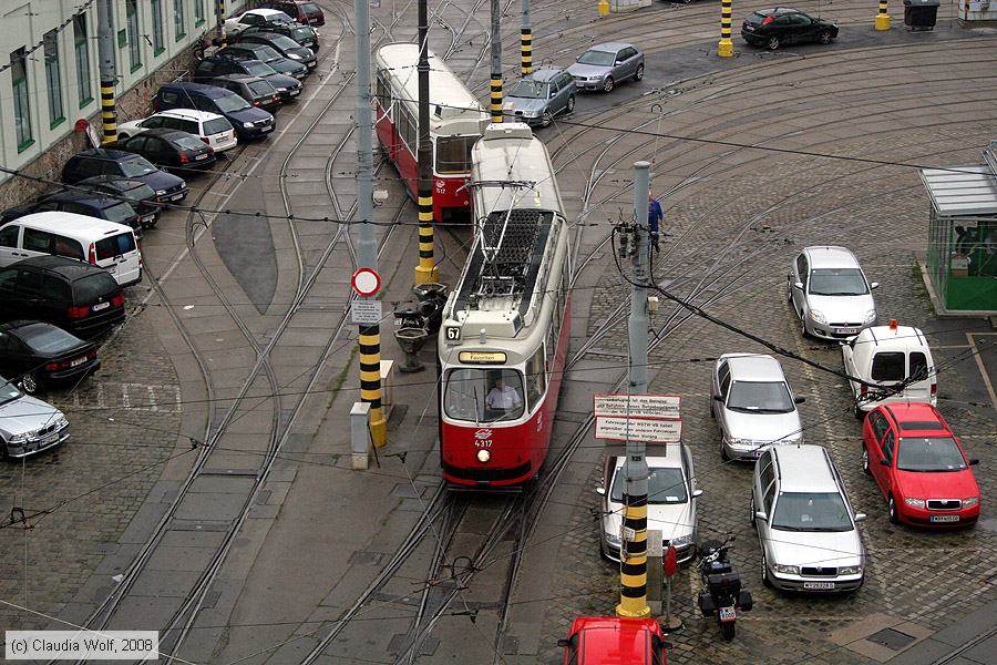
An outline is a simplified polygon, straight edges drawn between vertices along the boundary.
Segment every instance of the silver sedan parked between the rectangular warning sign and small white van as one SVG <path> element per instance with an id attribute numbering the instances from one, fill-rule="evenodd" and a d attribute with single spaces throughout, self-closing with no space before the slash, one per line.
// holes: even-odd
<path id="1" fill-rule="evenodd" d="M 753 460 L 771 443 L 803 441 L 802 397 L 793 397 L 772 356 L 723 354 L 713 365 L 710 416 L 720 428 L 720 457 Z"/>

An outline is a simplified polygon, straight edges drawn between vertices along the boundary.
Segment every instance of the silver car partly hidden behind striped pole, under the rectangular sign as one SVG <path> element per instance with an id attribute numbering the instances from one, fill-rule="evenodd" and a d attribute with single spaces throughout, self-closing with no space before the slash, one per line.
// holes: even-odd
<path id="1" fill-rule="evenodd" d="M 651 448 L 654 450 L 651 450 Z M 660 451 L 658 450 L 660 449 Z M 692 456 L 685 443 L 648 447 L 650 477 L 647 483 L 647 528 L 661 532 L 662 545 L 675 545 L 678 561 L 689 561 L 695 553 L 696 499 L 702 490 L 696 487 Z M 604 559 L 619 561 L 624 491 L 627 488 L 626 457 L 608 457 L 603 466 L 602 495 L 603 538 L 599 552 Z"/>

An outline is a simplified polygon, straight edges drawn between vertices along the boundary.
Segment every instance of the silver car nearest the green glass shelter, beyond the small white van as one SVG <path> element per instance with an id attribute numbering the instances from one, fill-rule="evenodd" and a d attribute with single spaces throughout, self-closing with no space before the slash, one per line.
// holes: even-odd
<path id="1" fill-rule="evenodd" d="M 790 266 L 787 298 L 800 331 L 823 339 L 854 337 L 876 325 L 876 304 L 855 255 L 844 247 L 805 247 Z"/>

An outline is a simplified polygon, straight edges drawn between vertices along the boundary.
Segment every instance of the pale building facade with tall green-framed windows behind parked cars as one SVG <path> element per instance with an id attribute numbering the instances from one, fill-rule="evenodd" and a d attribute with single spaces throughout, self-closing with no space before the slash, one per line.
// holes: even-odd
<path id="1" fill-rule="evenodd" d="M 58 180 L 65 160 L 89 147 L 89 121 L 97 134 L 100 69 L 97 2 L 0 0 L 0 164 Z M 183 78 L 192 49 L 217 23 L 217 0 L 112 0 L 119 123 L 150 112 L 166 81 Z M 226 2 L 227 14 L 243 2 Z M 18 182 L 20 181 L 20 182 Z M 0 173 L 0 208 L 44 185 Z"/>

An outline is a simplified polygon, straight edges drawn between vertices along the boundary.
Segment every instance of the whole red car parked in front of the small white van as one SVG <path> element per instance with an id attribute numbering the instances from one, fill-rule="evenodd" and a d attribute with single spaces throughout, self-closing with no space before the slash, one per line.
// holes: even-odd
<path id="1" fill-rule="evenodd" d="M 958 438 L 938 409 L 893 403 L 870 411 L 862 427 L 862 468 L 890 505 L 890 521 L 958 526 L 979 518 L 979 487 Z"/>

